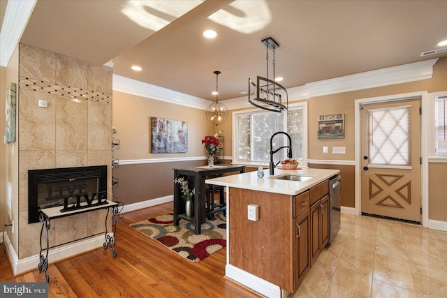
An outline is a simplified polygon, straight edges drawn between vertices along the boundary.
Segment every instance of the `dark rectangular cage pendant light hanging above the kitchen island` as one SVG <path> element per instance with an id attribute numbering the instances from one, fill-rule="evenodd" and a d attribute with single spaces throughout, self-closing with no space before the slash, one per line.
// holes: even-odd
<path id="1" fill-rule="evenodd" d="M 271 112 L 282 112 L 288 110 L 288 94 L 286 88 L 282 87 L 274 81 L 274 51 L 279 47 L 278 43 L 273 38 L 265 38 L 261 40 L 265 45 L 267 54 L 267 77 L 256 77 L 256 84 L 249 78 L 249 103 L 255 107 Z M 268 78 L 268 50 L 273 52 L 273 80 Z M 254 88 L 252 90 L 251 88 Z M 254 93 L 255 97 L 252 98 Z"/>

